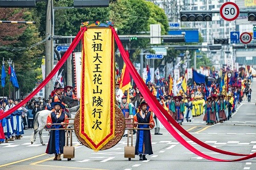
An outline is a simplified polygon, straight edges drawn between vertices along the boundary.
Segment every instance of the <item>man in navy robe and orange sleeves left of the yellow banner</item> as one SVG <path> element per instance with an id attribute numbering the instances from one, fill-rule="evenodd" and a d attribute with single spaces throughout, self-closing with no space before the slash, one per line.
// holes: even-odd
<path id="1" fill-rule="evenodd" d="M 62 112 L 65 106 L 60 102 L 52 102 L 51 106 L 54 107 L 52 113 L 47 117 L 47 128 L 60 129 L 65 127 L 65 123 L 69 123 L 68 116 Z M 67 122 L 66 122 L 67 121 Z M 61 125 L 52 125 L 61 124 Z M 53 160 L 61 160 L 60 155 L 63 154 L 63 147 L 65 146 L 65 130 L 51 130 L 49 142 L 47 145 L 46 153 L 55 154 Z"/>

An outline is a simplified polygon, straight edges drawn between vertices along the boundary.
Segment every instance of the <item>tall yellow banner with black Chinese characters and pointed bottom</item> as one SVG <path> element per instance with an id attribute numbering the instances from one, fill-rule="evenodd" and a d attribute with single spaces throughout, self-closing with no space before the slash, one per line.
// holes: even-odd
<path id="1" fill-rule="evenodd" d="M 82 46 L 80 136 L 93 150 L 115 137 L 114 37 L 111 28 L 87 28 Z"/>

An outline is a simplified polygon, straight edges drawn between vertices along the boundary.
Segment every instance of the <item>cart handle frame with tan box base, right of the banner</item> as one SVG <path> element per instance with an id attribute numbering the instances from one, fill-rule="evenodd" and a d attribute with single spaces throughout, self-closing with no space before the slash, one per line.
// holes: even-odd
<path id="1" fill-rule="evenodd" d="M 125 118 L 125 120 L 132 120 L 131 123 L 125 123 L 125 130 L 127 132 L 127 146 L 124 147 L 124 158 L 128 158 L 131 161 L 132 158 L 135 158 L 135 147 L 133 146 L 133 130 L 152 130 L 153 128 L 135 128 L 134 127 L 134 118 Z M 126 125 L 133 125 L 133 128 L 126 128 Z M 138 125 L 151 125 L 146 123 L 138 123 Z M 129 140 L 131 138 L 131 145 L 129 144 Z"/>

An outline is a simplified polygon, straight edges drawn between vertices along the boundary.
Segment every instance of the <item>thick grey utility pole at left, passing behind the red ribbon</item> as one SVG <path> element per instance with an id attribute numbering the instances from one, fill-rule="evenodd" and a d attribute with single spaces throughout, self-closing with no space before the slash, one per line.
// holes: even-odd
<path id="1" fill-rule="evenodd" d="M 47 2 L 47 12 L 46 12 L 46 38 L 51 35 L 51 23 L 52 23 L 52 0 L 48 0 Z M 45 78 L 51 72 L 51 40 L 46 40 L 46 74 Z M 47 83 L 45 86 L 45 99 L 49 98 L 49 94 L 51 93 L 51 81 Z"/>

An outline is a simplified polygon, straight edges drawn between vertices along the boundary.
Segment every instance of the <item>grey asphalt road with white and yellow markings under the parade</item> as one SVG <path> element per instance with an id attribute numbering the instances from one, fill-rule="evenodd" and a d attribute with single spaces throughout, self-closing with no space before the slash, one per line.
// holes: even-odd
<path id="1" fill-rule="evenodd" d="M 254 79 L 256 81 L 256 79 Z M 242 102 L 236 113 L 223 124 L 206 126 L 203 115 L 193 117 L 191 123 L 183 123 L 183 128 L 201 141 L 221 150 L 250 154 L 256 152 L 256 83 L 252 84 L 251 103 Z M 139 161 L 138 156 L 129 161 L 124 158 L 123 138 L 115 147 L 105 151 L 94 152 L 79 142 L 75 136 L 75 158 L 71 161 L 53 161 L 54 155 L 45 154 L 37 136 L 36 143 L 30 144 L 32 130 L 26 130 L 20 140 L 0 144 L 0 169 L 256 169 L 256 158 L 240 162 L 214 162 L 206 160 L 188 151 L 164 128 L 163 135 L 154 135 L 152 131 L 153 155 L 146 156 L 146 161 Z M 43 140 L 48 141 L 48 132 L 43 132 Z M 184 135 L 182 135 L 184 137 Z M 136 138 L 136 136 L 134 135 Z M 135 141 L 134 138 L 134 141 Z M 198 144 L 185 139 L 196 149 L 220 159 L 237 159 L 240 157 L 222 155 L 206 150 Z"/>

